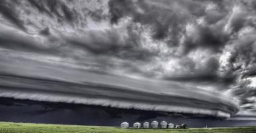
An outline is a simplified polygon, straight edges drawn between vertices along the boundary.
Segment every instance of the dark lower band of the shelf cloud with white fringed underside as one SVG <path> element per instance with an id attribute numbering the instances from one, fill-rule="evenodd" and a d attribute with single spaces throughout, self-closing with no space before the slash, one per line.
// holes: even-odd
<path id="1" fill-rule="evenodd" d="M 10 85 L 10 83 L 12 85 Z M 140 110 L 159 110 L 181 113 L 194 112 L 195 114 L 205 114 L 223 118 L 229 117 L 230 114 L 237 112 L 237 108 L 233 107 L 235 104 L 219 98 L 215 98 L 214 102 L 207 100 L 209 96 L 201 100 L 204 97 L 203 95 L 200 96 L 200 99 L 196 97 L 187 98 L 185 95 L 193 95 L 194 93 L 189 90 L 185 90 L 187 92 L 183 91 L 183 96 L 175 96 L 173 94 L 147 92 L 145 90 L 135 90 L 133 88 L 110 84 L 97 84 L 93 82 L 81 84 L 43 78 L 37 79 L 4 75 L 1 76 L 0 88 L 2 92 L 1 96 L 3 97 L 11 96 L 13 98 L 29 100 L 97 104 L 117 108 L 137 108 Z M 61 90 L 59 90 L 59 88 L 61 88 Z M 33 95 L 37 96 L 35 97 Z M 212 98 L 214 97 L 212 96 Z M 209 106 L 209 104 L 212 104 L 212 106 Z M 197 106 L 197 108 L 194 108 L 194 106 Z"/>

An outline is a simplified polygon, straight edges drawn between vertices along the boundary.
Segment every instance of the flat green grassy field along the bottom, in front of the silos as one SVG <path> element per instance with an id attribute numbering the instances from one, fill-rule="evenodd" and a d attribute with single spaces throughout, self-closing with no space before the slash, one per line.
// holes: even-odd
<path id="1" fill-rule="evenodd" d="M 13 123 L 0 122 L 0 133 L 51 133 L 51 132 L 87 132 L 87 133 L 256 133 L 256 126 L 239 127 L 239 128 L 189 128 L 189 129 L 121 129 L 105 126 L 77 126 L 77 125 L 59 125 L 59 124 L 30 124 L 30 123 Z"/>

